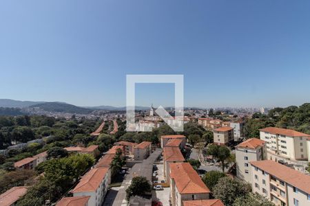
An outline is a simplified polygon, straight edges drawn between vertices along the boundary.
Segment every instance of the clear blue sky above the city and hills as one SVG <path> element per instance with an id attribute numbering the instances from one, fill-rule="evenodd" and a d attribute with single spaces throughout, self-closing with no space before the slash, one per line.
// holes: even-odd
<path id="1" fill-rule="evenodd" d="M 183 74 L 186 106 L 310 102 L 310 1 L 0 1 L 0 98 L 125 106 L 126 74 Z"/>

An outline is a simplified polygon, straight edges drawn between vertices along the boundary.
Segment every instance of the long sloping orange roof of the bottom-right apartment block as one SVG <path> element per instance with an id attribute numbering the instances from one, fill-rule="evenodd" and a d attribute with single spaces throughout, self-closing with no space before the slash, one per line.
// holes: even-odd
<path id="1" fill-rule="evenodd" d="M 272 160 L 252 161 L 250 163 L 257 168 L 276 176 L 278 179 L 297 187 L 299 190 L 310 194 L 310 176 L 307 174 L 302 174 L 301 172 Z"/>

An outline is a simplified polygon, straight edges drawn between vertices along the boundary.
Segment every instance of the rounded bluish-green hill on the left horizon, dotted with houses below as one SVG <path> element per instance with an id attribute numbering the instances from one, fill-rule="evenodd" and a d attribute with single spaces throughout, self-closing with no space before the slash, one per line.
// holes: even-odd
<path id="1" fill-rule="evenodd" d="M 88 114 L 93 111 L 90 108 L 83 108 L 62 102 L 44 102 L 41 104 L 34 104 L 30 107 L 39 107 L 44 111 L 49 112 L 76 113 L 76 114 Z"/>

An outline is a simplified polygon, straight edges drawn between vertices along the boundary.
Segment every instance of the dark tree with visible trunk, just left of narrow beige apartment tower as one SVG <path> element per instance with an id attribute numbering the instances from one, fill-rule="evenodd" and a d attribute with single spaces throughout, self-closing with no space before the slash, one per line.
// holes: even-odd
<path id="1" fill-rule="evenodd" d="M 231 154 L 227 146 L 211 144 L 207 148 L 207 155 L 212 155 L 217 161 L 220 161 L 223 172 L 225 172 L 225 168 L 231 163 Z"/>

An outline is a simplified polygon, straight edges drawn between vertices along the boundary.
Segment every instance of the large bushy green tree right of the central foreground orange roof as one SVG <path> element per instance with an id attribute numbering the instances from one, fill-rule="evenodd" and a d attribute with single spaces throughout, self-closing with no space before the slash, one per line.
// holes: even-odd
<path id="1" fill-rule="evenodd" d="M 251 186 L 242 181 L 223 177 L 213 187 L 214 198 L 220 199 L 224 205 L 233 205 L 236 198 L 243 197 L 251 192 Z"/>

